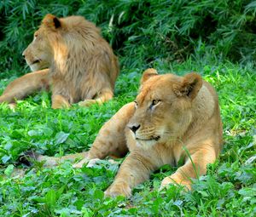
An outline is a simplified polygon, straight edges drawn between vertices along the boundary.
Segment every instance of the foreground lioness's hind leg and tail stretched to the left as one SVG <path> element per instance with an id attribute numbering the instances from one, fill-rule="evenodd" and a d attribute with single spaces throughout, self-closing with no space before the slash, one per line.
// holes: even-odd
<path id="1" fill-rule="evenodd" d="M 83 158 L 79 163 L 73 165 L 74 168 L 81 168 L 84 163 L 88 163 L 91 159 L 95 158 L 103 159 L 110 155 L 124 157 L 128 151 L 125 143 L 125 127 L 133 113 L 134 102 L 128 103 L 120 108 L 119 111 L 103 125 L 90 151 L 66 155 L 64 157 L 42 156 L 32 151 L 27 153 L 27 157 L 33 158 L 38 162 L 44 162 L 45 166 L 55 166 L 66 160 L 74 162 L 75 159 Z M 26 161 L 27 157 L 25 156 Z"/>

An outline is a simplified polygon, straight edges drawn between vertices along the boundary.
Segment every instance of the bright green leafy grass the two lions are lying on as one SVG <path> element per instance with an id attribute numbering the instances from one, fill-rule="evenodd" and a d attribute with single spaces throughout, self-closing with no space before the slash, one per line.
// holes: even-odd
<path id="1" fill-rule="evenodd" d="M 101 161 L 94 168 L 71 163 L 26 168 L 23 178 L 13 165 L 19 154 L 34 149 L 47 155 L 88 150 L 102 124 L 134 100 L 143 69 L 123 69 L 116 97 L 103 106 L 50 109 L 49 94 L 19 101 L 15 111 L 0 105 L 0 216 L 255 216 L 256 215 L 256 76 L 253 67 L 203 58 L 182 64 L 155 61 L 160 73 L 198 71 L 217 89 L 224 123 L 224 149 L 207 175 L 184 193 L 160 181 L 176 168 L 165 166 L 133 191 L 130 199 L 103 198 L 118 165 Z M 14 77 L 0 82 L 0 93 Z M 24 166 L 15 166 L 23 168 Z"/>

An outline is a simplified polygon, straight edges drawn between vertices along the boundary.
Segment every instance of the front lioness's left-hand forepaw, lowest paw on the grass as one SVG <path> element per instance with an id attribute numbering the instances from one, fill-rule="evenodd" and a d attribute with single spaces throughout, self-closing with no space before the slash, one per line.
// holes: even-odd
<path id="1" fill-rule="evenodd" d="M 105 197 L 118 197 L 125 196 L 131 197 L 131 187 L 126 183 L 119 183 L 113 186 L 109 186 L 104 192 Z"/>

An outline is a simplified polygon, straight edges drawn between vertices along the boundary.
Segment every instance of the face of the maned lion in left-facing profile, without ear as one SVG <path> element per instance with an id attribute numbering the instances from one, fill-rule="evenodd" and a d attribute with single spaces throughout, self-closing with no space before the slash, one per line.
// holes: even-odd
<path id="1" fill-rule="evenodd" d="M 27 65 L 32 71 L 38 71 L 49 67 L 52 60 L 52 54 L 49 48 L 47 37 L 44 31 L 38 30 L 34 33 L 32 43 L 23 51 Z"/>

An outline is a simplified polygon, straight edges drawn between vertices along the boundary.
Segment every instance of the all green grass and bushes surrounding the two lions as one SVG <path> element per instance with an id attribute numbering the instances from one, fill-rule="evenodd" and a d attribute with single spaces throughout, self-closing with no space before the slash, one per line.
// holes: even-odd
<path id="1" fill-rule="evenodd" d="M 48 13 L 80 14 L 101 26 L 122 63 L 121 75 L 114 100 L 103 106 L 52 110 L 47 93 L 18 101 L 15 110 L 0 104 L 0 216 L 256 216 L 256 2 L 2 0 L 0 94 L 28 71 L 21 52 Z M 106 199 L 103 191 L 119 164 L 102 160 L 73 169 L 68 162 L 55 168 L 17 163 L 28 149 L 50 156 L 88 150 L 102 124 L 134 100 L 146 66 L 180 75 L 198 71 L 218 91 L 224 150 L 193 191 L 171 186 L 159 192 L 160 181 L 177 169 L 167 165 L 130 199 Z"/>

